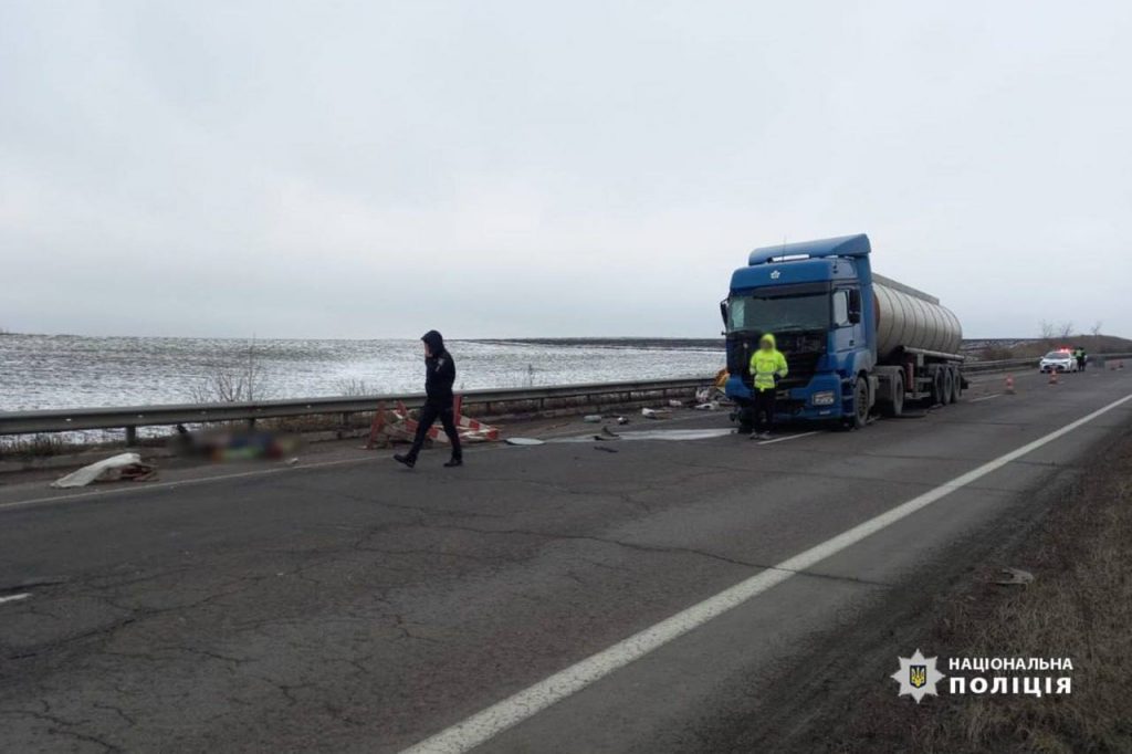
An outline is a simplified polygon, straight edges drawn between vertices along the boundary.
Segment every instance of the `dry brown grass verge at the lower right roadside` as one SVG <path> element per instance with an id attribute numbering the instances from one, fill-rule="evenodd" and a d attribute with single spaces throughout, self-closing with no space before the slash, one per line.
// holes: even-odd
<path id="1" fill-rule="evenodd" d="M 829 751 L 1132 752 L 1130 542 L 1132 431 L 1090 463 L 1018 551 L 1003 554 L 1035 580 L 1021 586 L 979 583 L 957 594 L 931 642 L 941 661 L 1067 657 L 1072 694 L 944 691 L 909 706 L 892 689 L 878 691 L 850 710 L 852 722 L 827 742 Z"/>

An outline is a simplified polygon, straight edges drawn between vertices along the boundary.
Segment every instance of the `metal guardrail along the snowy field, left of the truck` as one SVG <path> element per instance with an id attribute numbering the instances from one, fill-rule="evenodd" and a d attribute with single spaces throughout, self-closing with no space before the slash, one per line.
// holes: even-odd
<path id="1" fill-rule="evenodd" d="M 483 406 L 491 413 L 492 404 L 529 404 L 531 413 L 547 410 L 549 403 L 563 406 L 586 402 L 631 403 L 646 394 L 686 393 L 711 383 L 710 377 L 651 379 L 625 383 L 588 383 L 552 387 L 465 391 L 464 405 Z M 379 403 L 392 405 L 402 401 L 410 409 L 420 408 L 423 393 L 394 393 L 350 397 L 289 399 L 283 401 L 255 401 L 245 403 L 190 403 L 172 405 L 138 405 L 105 409 L 51 409 L 42 411 L 0 412 L 0 435 L 32 435 L 66 432 L 82 429 L 125 429 L 127 442 L 137 439 L 139 427 L 161 427 L 185 423 L 220 421 L 248 421 L 341 414 L 343 423 L 353 413 L 377 410 Z"/>

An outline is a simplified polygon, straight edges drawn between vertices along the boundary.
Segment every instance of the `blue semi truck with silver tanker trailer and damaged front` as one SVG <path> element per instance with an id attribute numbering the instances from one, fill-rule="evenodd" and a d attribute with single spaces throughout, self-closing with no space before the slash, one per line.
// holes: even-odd
<path id="1" fill-rule="evenodd" d="M 778 420 L 864 427 L 908 402 L 949 404 L 964 387 L 962 327 L 940 300 L 873 273 L 864 233 L 755 249 L 720 302 L 727 327 L 726 392 L 740 431 L 753 421 L 751 354 L 773 333 L 789 375 Z"/>

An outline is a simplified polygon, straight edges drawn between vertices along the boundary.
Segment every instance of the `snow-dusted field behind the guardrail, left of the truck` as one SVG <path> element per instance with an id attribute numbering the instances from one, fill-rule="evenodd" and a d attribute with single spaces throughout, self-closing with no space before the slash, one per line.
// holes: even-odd
<path id="1" fill-rule="evenodd" d="M 256 397 L 423 389 L 419 341 L 0 335 L 0 411 L 205 400 L 249 365 Z M 453 341 L 456 387 L 522 387 L 713 375 L 722 342 Z M 211 397 L 209 400 L 216 400 Z"/>

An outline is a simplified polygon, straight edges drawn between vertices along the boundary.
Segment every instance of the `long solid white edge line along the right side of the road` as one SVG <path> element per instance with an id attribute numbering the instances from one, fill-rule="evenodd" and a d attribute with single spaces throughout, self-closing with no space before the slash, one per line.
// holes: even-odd
<path id="1" fill-rule="evenodd" d="M 766 568 L 751 579 L 740 581 L 738 584 L 723 590 L 714 597 L 709 597 L 704 601 L 693 605 L 654 626 L 633 634 L 628 639 L 621 640 L 597 654 L 591 654 L 568 668 L 559 670 L 533 686 L 529 686 L 501 702 L 497 702 L 486 710 L 477 712 L 451 728 L 426 738 L 421 743 L 404 749 L 403 754 L 461 754 L 468 752 L 495 738 L 504 730 L 534 717 L 551 704 L 576 694 L 590 684 L 624 668 L 634 660 L 698 628 L 709 620 L 762 594 L 772 586 L 781 584 L 797 573 L 812 568 L 822 560 L 837 555 L 846 548 L 852 547 L 865 538 L 910 516 L 920 508 L 932 505 L 940 498 L 946 497 L 951 492 L 967 487 L 990 472 L 1002 469 L 1007 463 L 1053 443 L 1055 439 L 1129 401 L 1132 401 L 1132 395 L 1126 395 L 1118 401 L 1114 401 L 1077 421 L 1065 425 L 1061 429 L 1052 431 L 1032 443 L 1027 443 L 1005 455 L 998 456 L 994 461 L 988 461 L 964 474 L 955 477 L 949 482 L 944 482 L 923 495 L 914 497 L 907 503 L 869 519 L 832 539 L 827 539 L 821 545 L 816 545 L 771 568 Z"/>

